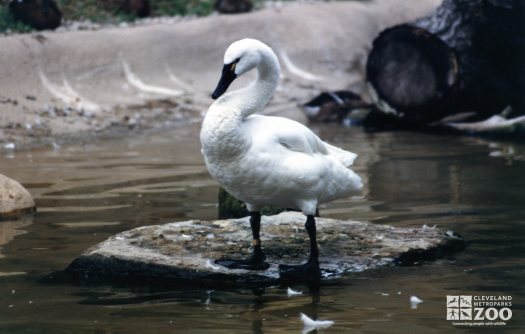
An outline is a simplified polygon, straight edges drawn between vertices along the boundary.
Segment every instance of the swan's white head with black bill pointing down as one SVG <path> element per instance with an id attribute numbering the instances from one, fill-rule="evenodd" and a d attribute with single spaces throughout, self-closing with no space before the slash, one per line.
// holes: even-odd
<path id="1" fill-rule="evenodd" d="M 244 38 L 233 42 L 224 54 L 221 79 L 211 97 L 216 99 L 224 94 L 233 80 L 257 67 L 262 54 L 268 51 L 274 54 L 268 45 L 256 39 Z"/>

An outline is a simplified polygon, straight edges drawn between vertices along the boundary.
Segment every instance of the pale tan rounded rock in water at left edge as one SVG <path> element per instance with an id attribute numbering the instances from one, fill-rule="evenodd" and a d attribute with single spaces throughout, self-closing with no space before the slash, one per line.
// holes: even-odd
<path id="1" fill-rule="evenodd" d="M 36 210 L 33 197 L 20 183 L 0 174 L 0 220 L 19 218 Z"/>

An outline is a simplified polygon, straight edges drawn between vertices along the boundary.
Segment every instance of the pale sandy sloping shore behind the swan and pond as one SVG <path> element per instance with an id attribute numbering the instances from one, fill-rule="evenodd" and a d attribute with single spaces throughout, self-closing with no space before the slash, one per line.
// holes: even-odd
<path id="1" fill-rule="evenodd" d="M 0 151 L 198 122 L 225 48 L 274 48 L 283 78 L 267 112 L 291 113 L 325 89 L 364 90 L 373 38 L 439 0 L 295 4 L 243 15 L 0 37 Z M 239 80 L 238 87 L 249 80 Z"/>

